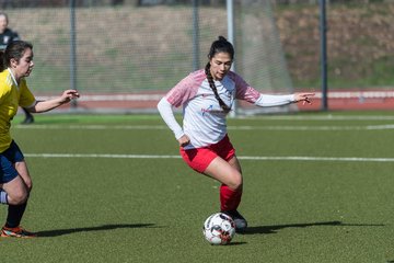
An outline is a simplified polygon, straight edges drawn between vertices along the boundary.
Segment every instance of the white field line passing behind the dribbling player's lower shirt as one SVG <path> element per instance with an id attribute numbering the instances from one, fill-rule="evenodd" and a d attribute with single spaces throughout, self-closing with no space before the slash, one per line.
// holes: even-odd
<path id="1" fill-rule="evenodd" d="M 20 129 L 169 129 L 165 125 L 16 125 Z M 383 130 L 394 129 L 394 124 L 366 125 L 366 126 L 229 126 L 229 130 Z"/>

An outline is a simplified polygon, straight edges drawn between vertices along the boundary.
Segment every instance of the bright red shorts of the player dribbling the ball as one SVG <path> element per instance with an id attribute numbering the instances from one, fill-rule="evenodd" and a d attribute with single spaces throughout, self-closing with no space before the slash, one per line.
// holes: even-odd
<path id="1" fill-rule="evenodd" d="M 229 161 L 235 156 L 235 149 L 231 145 L 228 135 L 225 135 L 218 144 L 189 150 L 185 150 L 181 147 L 179 152 L 184 161 L 200 173 L 207 169 L 215 158 L 221 157 L 225 161 Z"/>

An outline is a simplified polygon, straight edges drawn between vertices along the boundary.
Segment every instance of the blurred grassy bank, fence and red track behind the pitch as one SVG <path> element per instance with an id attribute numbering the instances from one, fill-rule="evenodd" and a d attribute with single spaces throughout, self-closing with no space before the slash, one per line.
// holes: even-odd
<path id="1" fill-rule="evenodd" d="M 0 0 L 9 27 L 34 45 L 38 96 L 70 87 L 79 111 L 155 112 L 207 62 L 233 26 L 234 71 L 267 93 L 322 96 L 318 0 Z M 327 0 L 329 110 L 394 108 L 394 1 Z M 318 110 L 317 101 L 309 110 Z M 305 110 L 286 108 L 288 110 Z M 241 103 L 240 113 L 258 113 Z"/>

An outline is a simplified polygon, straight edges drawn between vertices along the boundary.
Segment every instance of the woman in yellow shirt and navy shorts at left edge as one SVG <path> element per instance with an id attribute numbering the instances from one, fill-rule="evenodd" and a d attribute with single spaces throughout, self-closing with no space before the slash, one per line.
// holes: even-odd
<path id="1" fill-rule="evenodd" d="M 36 101 L 25 80 L 34 67 L 33 45 L 15 41 L 0 54 L 0 203 L 9 206 L 1 237 L 35 237 L 20 226 L 32 191 L 32 179 L 21 149 L 11 138 L 11 119 L 18 106 L 33 113 L 47 112 L 79 98 L 79 93 L 66 90 L 59 98 Z"/>

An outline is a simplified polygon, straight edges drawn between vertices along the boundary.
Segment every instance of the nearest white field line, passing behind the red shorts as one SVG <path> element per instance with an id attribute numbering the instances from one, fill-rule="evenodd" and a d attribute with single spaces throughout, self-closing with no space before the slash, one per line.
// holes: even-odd
<path id="1" fill-rule="evenodd" d="M 99 155 L 99 153 L 25 153 L 30 158 L 105 158 L 105 159 L 179 159 L 179 156 L 158 155 Z M 394 158 L 362 157 L 237 157 L 252 161 L 341 161 L 341 162 L 394 162 Z"/>

